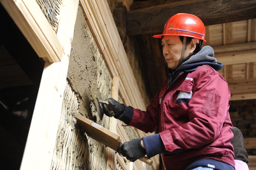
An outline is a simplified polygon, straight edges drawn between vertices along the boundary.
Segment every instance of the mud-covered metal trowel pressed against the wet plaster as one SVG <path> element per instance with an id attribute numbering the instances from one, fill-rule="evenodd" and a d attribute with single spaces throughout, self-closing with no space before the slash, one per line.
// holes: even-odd
<path id="1" fill-rule="evenodd" d="M 91 87 L 90 87 L 91 96 L 93 98 L 94 105 L 96 107 L 96 111 L 99 113 L 99 118 L 102 120 L 104 112 L 102 104 L 109 104 L 108 101 L 102 101 L 101 100 L 101 94 L 99 92 L 99 87 L 97 85 L 96 80 L 92 81 Z"/>

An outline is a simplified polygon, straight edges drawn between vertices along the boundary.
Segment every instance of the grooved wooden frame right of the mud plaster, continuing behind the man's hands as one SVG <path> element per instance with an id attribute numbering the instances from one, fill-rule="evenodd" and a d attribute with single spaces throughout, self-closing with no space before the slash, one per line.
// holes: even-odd
<path id="1" fill-rule="evenodd" d="M 107 0 L 80 0 L 80 6 L 112 77 L 119 78 L 119 95 L 124 104 L 145 110 L 146 106 L 122 45 L 122 40 Z M 117 124 L 116 130 L 121 140 L 128 141 L 128 135 L 121 133 L 125 130 L 119 120 L 117 120 Z M 140 138 L 148 135 L 140 130 L 137 130 L 137 132 Z M 122 159 L 117 155 L 117 160 L 124 170 L 132 168 L 135 170 L 145 169 L 145 163 L 142 164 L 140 161 L 135 161 L 131 164 L 125 164 Z M 153 161 L 153 169 L 157 169 L 159 166 L 159 157 L 155 156 L 151 159 Z"/>

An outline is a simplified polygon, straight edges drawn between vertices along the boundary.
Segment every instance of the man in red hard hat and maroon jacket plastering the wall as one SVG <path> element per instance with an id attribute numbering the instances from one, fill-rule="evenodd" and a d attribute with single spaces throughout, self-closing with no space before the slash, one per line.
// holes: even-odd
<path id="1" fill-rule="evenodd" d="M 192 14 L 175 14 L 162 38 L 168 78 L 146 111 L 110 98 L 104 113 L 145 133 L 159 133 L 123 143 L 118 152 L 130 161 L 163 154 L 167 170 L 235 170 L 230 140 L 230 90 L 218 73 L 223 64 L 205 40 L 204 23 Z"/>

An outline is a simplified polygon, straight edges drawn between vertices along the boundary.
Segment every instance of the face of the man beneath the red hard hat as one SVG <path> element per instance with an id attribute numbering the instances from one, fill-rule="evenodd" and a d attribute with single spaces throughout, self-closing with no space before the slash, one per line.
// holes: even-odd
<path id="1" fill-rule="evenodd" d="M 176 69 L 180 62 L 182 52 L 182 42 L 179 36 L 166 35 L 162 39 L 163 56 L 170 69 Z M 189 56 L 189 52 L 185 50 L 184 57 Z"/>

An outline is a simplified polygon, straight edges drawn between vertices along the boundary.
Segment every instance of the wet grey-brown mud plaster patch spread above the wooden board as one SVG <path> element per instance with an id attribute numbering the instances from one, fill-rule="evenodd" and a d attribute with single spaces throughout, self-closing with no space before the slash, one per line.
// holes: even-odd
<path id="1" fill-rule="evenodd" d="M 90 44 L 90 38 L 87 37 L 85 28 L 86 21 L 79 7 L 67 79 L 78 96 L 80 114 L 93 119 L 90 110 L 93 104 L 93 99 L 90 96 L 90 85 L 93 80 L 97 79 L 97 63 L 93 55 L 93 46 Z"/>

